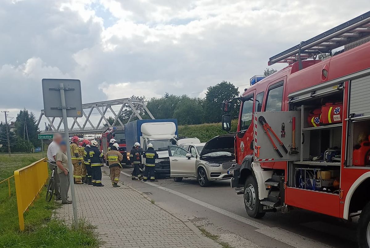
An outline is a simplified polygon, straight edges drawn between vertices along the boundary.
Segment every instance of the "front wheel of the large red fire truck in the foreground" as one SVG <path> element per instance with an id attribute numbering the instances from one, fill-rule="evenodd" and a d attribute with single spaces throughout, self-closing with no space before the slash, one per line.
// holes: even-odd
<path id="1" fill-rule="evenodd" d="M 258 198 L 257 181 L 253 175 L 249 175 L 244 185 L 244 206 L 247 214 L 252 218 L 262 218 L 266 213 L 259 212 L 260 200 Z"/>

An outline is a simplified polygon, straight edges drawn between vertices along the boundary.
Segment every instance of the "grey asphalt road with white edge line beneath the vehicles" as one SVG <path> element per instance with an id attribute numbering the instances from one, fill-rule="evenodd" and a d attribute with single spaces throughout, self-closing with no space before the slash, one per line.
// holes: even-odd
<path id="1" fill-rule="evenodd" d="M 133 181 L 132 168 L 122 170 L 120 180 L 149 195 L 156 204 L 179 214 L 195 225 L 219 235 L 231 247 L 357 247 L 357 219 L 343 220 L 306 210 L 266 213 L 256 220 L 244 209 L 243 196 L 236 195 L 230 180 L 200 187 L 195 179 L 155 183 Z"/>

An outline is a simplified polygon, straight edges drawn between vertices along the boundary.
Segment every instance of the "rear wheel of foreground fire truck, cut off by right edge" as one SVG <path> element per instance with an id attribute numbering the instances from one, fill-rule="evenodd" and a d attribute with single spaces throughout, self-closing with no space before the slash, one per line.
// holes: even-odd
<path id="1" fill-rule="evenodd" d="M 359 225 L 357 226 L 357 240 L 359 248 L 370 247 L 370 202 L 361 211 Z"/>

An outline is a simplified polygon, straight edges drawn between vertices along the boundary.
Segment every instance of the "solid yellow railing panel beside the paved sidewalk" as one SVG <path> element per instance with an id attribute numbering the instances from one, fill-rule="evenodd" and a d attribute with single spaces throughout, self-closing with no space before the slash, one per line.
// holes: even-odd
<path id="1" fill-rule="evenodd" d="M 45 158 L 14 171 L 19 229 L 21 231 L 24 231 L 23 214 L 44 187 L 48 176 L 48 167 Z"/>

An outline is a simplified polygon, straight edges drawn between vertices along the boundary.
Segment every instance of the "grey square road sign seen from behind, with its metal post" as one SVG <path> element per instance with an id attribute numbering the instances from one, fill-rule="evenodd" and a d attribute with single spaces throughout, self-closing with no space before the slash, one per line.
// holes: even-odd
<path id="1" fill-rule="evenodd" d="M 44 113 L 46 117 L 63 117 L 64 141 L 69 144 L 67 117 L 82 117 L 81 82 L 76 79 L 43 79 Z M 78 228 L 76 196 L 73 183 L 71 149 L 67 147 L 70 187 L 75 229 Z"/>

